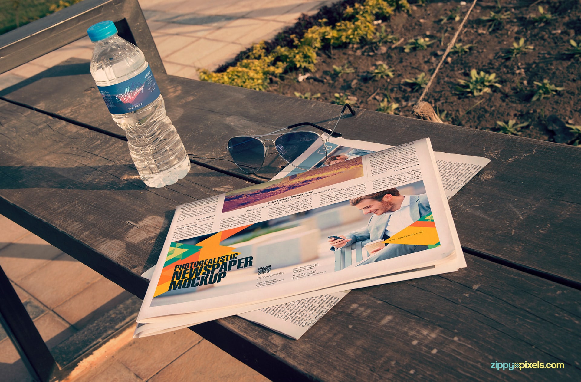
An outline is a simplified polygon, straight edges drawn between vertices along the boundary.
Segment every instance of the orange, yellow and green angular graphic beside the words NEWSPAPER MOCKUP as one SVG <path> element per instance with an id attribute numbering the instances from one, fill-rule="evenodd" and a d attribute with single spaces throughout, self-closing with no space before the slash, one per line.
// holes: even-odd
<path id="1" fill-rule="evenodd" d="M 155 289 L 153 297 L 157 297 L 168 291 L 171 277 L 174 274 L 176 266 L 193 263 L 199 260 L 213 259 L 233 252 L 234 249 L 236 249 L 235 247 L 224 247 L 223 245 L 220 245 L 220 242 L 250 225 L 251 224 L 220 231 L 211 235 L 209 238 L 200 241 L 196 245 L 171 242 L 170 249 L 167 251 L 166 262 L 163 264 L 162 274 L 159 276 L 159 281 L 157 282 L 157 288 Z"/>

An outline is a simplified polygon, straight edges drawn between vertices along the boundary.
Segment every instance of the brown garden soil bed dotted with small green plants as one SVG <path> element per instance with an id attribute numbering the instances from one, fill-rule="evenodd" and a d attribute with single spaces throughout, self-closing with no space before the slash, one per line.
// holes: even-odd
<path id="1" fill-rule="evenodd" d="M 300 74 L 286 73 L 273 80 L 267 91 L 294 96 L 295 92 L 315 98 L 317 101 L 333 102 L 335 94 L 345 94 L 349 102 L 359 108 L 376 110 L 387 98 L 399 103 L 395 111 L 399 115 L 413 117 L 412 106 L 418 101 L 422 90 L 413 91 L 404 83 L 406 78 L 415 78 L 424 72 L 431 75 L 442 58 L 443 52 L 471 3 L 432 2 L 412 5 L 410 14 L 397 12 L 389 20 L 378 25 L 396 35 L 399 45 L 361 44 L 318 53 L 316 69 L 310 77 L 298 81 Z M 569 40 L 581 40 L 581 6 L 574 1 L 501 1 L 479 2 L 458 37 L 457 43 L 474 45 L 466 54 L 450 53 L 439 70 L 424 101 L 432 103 L 444 115 L 447 123 L 499 131 L 497 121 L 526 123 L 517 133 L 522 137 L 573 144 L 579 139 L 566 124 L 581 124 L 581 58 L 566 55 Z M 529 15 L 539 16 L 538 6 L 550 12 L 554 18 L 549 23 L 535 23 Z M 442 23 L 441 17 L 458 9 L 460 20 Z M 325 17 L 322 9 L 315 17 Z M 480 18 L 495 13 L 510 12 L 503 24 L 489 30 L 489 24 Z M 321 17 L 322 16 L 322 17 Z M 311 18 L 312 20 L 312 18 Z M 298 25 L 298 24 L 297 24 Z M 303 22 L 304 25 L 304 22 Z M 288 34 L 287 34 L 288 35 Z M 428 37 L 435 42 L 425 50 L 404 52 L 408 40 Z M 513 42 L 525 39 L 524 45 L 533 45 L 525 53 L 506 59 L 503 56 Z M 279 37 L 280 39 L 280 37 Z M 393 68 L 393 78 L 374 80 L 370 75 L 378 62 Z M 353 73 L 341 76 L 333 74 L 333 66 L 348 65 Z M 458 94 L 457 80 L 469 79 L 471 69 L 487 74 L 496 73 L 500 88 L 493 87 L 492 93 L 474 97 L 467 92 Z M 532 101 L 535 81 L 551 84 L 564 90 L 550 97 Z"/>

